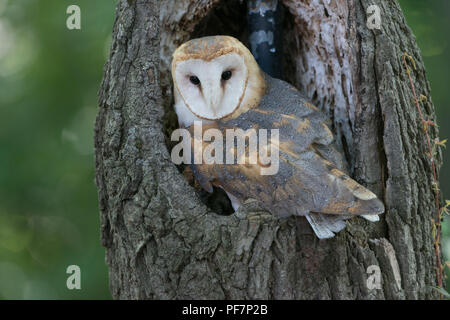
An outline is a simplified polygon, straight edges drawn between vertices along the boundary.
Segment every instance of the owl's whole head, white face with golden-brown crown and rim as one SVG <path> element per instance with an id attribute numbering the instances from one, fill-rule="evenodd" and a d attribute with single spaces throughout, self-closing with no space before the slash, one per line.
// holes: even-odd
<path id="1" fill-rule="evenodd" d="M 250 51 L 229 36 L 193 39 L 178 47 L 172 78 L 175 99 L 183 99 L 194 115 L 206 120 L 222 119 L 258 104 L 265 89 Z"/>

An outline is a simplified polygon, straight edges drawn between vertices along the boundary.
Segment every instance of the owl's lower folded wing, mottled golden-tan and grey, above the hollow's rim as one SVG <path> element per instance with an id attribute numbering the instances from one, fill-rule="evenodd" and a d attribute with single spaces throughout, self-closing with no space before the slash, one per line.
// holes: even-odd
<path id="1" fill-rule="evenodd" d="M 376 196 L 313 147 L 300 153 L 282 146 L 288 142 L 280 135 L 279 169 L 274 175 L 261 175 L 257 164 L 193 164 L 196 179 L 206 190 L 223 188 L 241 202 L 259 200 L 279 216 L 325 213 L 330 215 L 372 215 L 383 213 Z M 208 146 L 204 143 L 203 149 Z M 271 142 L 272 148 L 277 145 Z M 274 150 L 274 149 L 272 149 Z"/>

